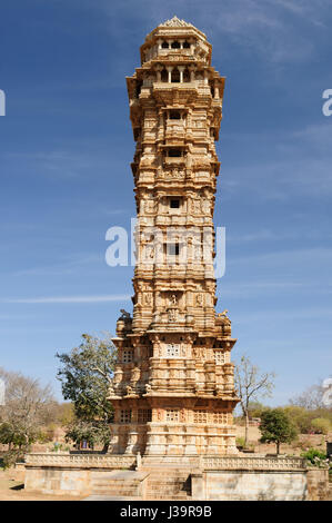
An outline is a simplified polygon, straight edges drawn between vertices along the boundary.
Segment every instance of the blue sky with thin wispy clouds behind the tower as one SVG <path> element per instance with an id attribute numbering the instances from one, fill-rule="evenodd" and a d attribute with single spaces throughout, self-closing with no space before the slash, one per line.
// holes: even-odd
<path id="1" fill-rule="evenodd" d="M 16 0 L 1 6 L 0 366 L 56 381 L 57 351 L 114 333 L 132 267 L 105 231 L 134 216 L 125 76 L 177 14 L 227 77 L 215 225 L 218 309 L 276 373 L 273 404 L 331 374 L 331 0 Z"/>

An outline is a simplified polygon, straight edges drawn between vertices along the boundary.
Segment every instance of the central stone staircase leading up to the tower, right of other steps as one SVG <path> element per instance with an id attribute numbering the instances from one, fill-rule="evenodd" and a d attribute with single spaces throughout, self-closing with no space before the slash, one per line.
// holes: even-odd
<path id="1" fill-rule="evenodd" d="M 191 500 L 190 471 L 150 468 L 145 500 Z"/>

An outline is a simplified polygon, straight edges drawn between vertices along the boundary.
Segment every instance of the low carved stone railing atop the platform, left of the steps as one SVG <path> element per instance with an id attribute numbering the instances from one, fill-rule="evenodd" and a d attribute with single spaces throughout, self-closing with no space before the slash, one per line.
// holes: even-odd
<path id="1" fill-rule="evenodd" d="M 26 466 L 56 466 L 82 468 L 131 468 L 137 464 L 134 455 L 31 453 L 24 456 Z"/>

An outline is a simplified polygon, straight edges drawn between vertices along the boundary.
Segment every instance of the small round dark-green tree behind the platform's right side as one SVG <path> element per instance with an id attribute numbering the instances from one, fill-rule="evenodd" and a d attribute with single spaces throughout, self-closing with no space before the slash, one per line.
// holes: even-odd
<path id="1" fill-rule="evenodd" d="M 260 431 L 261 443 L 275 443 L 276 454 L 281 443 L 291 443 L 298 436 L 298 431 L 282 408 L 271 408 L 262 413 Z"/>

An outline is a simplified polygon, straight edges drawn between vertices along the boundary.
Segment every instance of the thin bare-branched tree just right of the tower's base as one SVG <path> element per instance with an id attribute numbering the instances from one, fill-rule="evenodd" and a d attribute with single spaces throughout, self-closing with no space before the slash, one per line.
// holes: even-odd
<path id="1" fill-rule="evenodd" d="M 253 365 L 248 356 L 241 356 L 240 363 L 235 364 L 234 382 L 245 420 L 244 445 L 248 443 L 250 404 L 260 396 L 271 396 L 274 376 L 274 373 L 261 374 L 259 367 Z"/>

